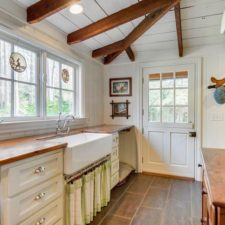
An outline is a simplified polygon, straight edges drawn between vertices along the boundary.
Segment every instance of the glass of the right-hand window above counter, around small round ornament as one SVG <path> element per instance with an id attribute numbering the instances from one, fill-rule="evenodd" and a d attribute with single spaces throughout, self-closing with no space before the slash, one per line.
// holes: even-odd
<path id="1" fill-rule="evenodd" d="M 62 71 L 69 72 L 68 82 L 62 79 Z M 46 112 L 47 116 L 74 114 L 75 103 L 75 68 L 66 62 L 47 57 Z"/>

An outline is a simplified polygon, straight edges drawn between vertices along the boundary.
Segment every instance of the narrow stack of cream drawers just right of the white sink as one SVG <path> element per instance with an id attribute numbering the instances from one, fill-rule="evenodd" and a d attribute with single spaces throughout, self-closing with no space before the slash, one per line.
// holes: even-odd
<path id="1" fill-rule="evenodd" d="M 119 182 L 119 134 L 113 134 L 111 153 L 111 189 Z"/>

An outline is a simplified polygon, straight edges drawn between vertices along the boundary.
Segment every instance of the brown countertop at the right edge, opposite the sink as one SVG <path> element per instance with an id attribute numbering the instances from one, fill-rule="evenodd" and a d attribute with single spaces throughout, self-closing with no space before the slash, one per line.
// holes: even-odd
<path id="1" fill-rule="evenodd" d="M 225 207 L 225 149 L 203 149 L 202 154 L 212 202 Z"/>

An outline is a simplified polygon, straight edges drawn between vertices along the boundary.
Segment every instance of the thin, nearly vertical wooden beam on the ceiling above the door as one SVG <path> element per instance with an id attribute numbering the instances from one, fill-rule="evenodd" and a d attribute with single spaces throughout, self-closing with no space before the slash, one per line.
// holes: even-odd
<path id="1" fill-rule="evenodd" d="M 177 40 L 178 40 L 178 48 L 179 48 L 179 56 L 183 56 L 183 37 L 182 37 L 182 24 L 181 24 L 181 13 L 180 13 L 180 3 L 178 3 L 175 7 L 175 18 L 176 18 L 176 27 L 177 27 Z"/>

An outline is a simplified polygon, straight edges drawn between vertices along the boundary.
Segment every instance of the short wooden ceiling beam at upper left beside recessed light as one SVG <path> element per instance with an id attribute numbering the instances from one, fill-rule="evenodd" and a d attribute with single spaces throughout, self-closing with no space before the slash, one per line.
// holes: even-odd
<path id="1" fill-rule="evenodd" d="M 27 8 L 27 22 L 37 23 L 80 0 L 41 0 Z"/>

